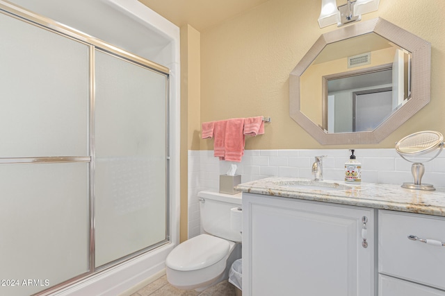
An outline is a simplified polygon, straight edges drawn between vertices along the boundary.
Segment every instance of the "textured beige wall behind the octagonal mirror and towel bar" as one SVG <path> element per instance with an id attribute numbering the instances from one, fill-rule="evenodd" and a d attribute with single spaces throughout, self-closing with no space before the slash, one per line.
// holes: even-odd
<path id="1" fill-rule="evenodd" d="M 265 134 L 248 138 L 246 149 L 350 148 L 321 146 L 289 117 L 289 73 L 322 33 L 337 28 L 318 27 L 320 7 L 321 0 L 270 0 L 201 32 L 201 108 L 195 116 L 202 122 L 270 116 Z M 359 148 L 392 148 L 419 130 L 445 134 L 444 11 L 444 0 L 380 0 L 377 12 L 362 16 L 382 17 L 430 42 L 432 81 L 430 104 L 381 143 Z M 213 141 L 200 140 L 199 149 L 213 149 Z"/>

